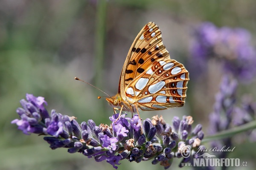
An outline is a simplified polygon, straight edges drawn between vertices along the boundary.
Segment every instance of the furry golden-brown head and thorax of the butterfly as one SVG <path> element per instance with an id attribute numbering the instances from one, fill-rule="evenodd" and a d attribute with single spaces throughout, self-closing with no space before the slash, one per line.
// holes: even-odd
<path id="1" fill-rule="evenodd" d="M 135 106 L 134 104 L 130 104 L 124 99 L 122 99 L 121 95 L 117 93 L 115 96 L 107 97 L 106 100 L 108 101 L 108 104 L 111 105 L 112 108 L 122 108 L 123 111 L 129 111 L 131 113 L 135 113 Z"/>

